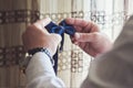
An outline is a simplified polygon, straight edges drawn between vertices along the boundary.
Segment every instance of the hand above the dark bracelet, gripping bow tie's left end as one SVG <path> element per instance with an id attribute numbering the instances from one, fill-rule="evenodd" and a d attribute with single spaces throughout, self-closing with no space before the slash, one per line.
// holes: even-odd
<path id="1" fill-rule="evenodd" d="M 51 53 L 51 56 L 54 55 L 58 44 L 61 42 L 61 36 L 48 33 L 44 26 L 50 22 L 50 19 L 44 19 L 27 28 L 22 35 L 23 45 L 27 51 L 35 47 L 45 47 Z"/>

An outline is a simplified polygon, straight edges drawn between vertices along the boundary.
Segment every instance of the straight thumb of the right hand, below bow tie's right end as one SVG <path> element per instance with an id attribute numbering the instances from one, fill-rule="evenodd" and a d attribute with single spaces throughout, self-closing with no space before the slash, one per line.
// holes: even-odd
<path id="1" fill-rule="evenodd" d="M 75 33 L 74 40 L 75 42 L 95 42 L 99 40 L 100 33 L 93 32 L 93 33 Z"/>

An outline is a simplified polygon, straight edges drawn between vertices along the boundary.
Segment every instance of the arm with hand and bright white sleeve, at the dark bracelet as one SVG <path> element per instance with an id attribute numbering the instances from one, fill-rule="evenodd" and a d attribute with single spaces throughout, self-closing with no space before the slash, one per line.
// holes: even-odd
<path id="1" fill-rule="evenodd" d="M 54 55 L 61 36 L 50 34 L 44 26 L 50 23 L 50 19 L 40 20 L 29 25 L 22 35 L 23 45 L 27 51 L 44 47 Z M 59 79 L 53 70 L 50 57 L 44 52 L 33 54 L 25 70 L 28 88 L 63 88 L 64 84 Z"/>

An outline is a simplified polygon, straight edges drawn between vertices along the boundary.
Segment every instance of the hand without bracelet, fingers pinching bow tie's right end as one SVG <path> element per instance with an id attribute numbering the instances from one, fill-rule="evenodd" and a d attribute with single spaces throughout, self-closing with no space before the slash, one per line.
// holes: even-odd
<path id="1" fill-rule="evenodd" d="M 100 29 L 93 22 L 72 18 L 65 21 L 76 30 L 76 33 L 71 38 L 72 42 L 91 56 L 95 57 L 108 52 L 112 47 L 112 42 L 105 34 L 100 32 Z"/>

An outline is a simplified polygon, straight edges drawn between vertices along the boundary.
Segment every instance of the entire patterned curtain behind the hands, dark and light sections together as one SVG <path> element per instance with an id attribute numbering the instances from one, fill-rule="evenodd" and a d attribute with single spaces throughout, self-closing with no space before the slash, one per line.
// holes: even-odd
<path id="1" fill-rule="evenodd" d="M 0 88 L 24 88 L 25 76 L 19 67 L 24 57 L 21 34 L 38 19 L 65 18 L 94 21 L 112 41 L 132 14 L 132 0 L 0 0 Z M 68 88 L 79 88 L 93 59 L 64 37 L 59 53 L 58 76 Z"/>

